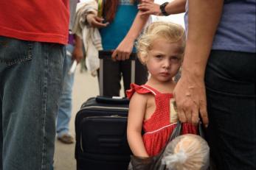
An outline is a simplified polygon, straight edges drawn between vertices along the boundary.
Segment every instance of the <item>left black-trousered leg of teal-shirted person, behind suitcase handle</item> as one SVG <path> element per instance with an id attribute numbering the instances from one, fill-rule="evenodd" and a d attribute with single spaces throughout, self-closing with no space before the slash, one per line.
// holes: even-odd
<path id="1" fill-rule="evenodd" d="M 98 74 L 99 77 L 99 74 Z M 103 60 L 103 96 L 120 96 L 120 62 Z"/>

